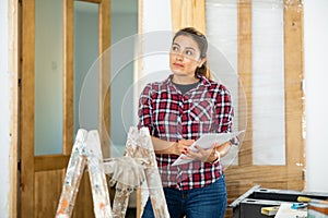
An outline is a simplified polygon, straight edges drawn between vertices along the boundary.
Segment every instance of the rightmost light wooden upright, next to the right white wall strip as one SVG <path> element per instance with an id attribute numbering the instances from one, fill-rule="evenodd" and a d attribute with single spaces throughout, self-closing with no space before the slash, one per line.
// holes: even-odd
<path id="1" fill-rule="evenodd" d="M 303 4 L 284 1 L 284 86 L 289 189 L 303 190 L 305 169 Z M 295 146 L 296 145 L 296 146 Z M 296 147 L 296 149 L 295 149 Z"/>

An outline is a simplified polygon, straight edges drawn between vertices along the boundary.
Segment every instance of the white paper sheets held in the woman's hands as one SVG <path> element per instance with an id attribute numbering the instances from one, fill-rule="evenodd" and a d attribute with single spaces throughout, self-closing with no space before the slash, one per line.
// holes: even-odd
<path id="1" fill-rule="evenodd" d="M 223 143 L 236 137 L 241 133 L 245 132 L 239 131 L 239 132 L 232 132 L 232 133 L 207 133 L 203 134 L 200 138 L 195 141 L 192 145 L 190 145 L 189 149 L 192 152 L 197 152 L 196 145 L 200 146 L 202 149 L 209 149 L 214 143 L 222 145 Z M 181 154 L 174 162 L 172 166 L 178 166 L 178 165 L 184 165 L 187 162 L 194 161 L 192 159 L 183 159 L 183 157 L 186 157 L 186 155 Z"/>

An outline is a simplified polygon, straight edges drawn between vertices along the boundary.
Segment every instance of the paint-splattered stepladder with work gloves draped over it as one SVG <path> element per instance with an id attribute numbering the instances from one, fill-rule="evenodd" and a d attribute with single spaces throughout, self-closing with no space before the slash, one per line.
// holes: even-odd
<path id="1" fill-rule="evenodd" d="M 71 217 L 84 170 L 89 170 L 96 218 L 124 218 L 130 194 L 147 186 L 156 218 L 168 218 L 161 177 L 149 130 L 131 126 L 122 157 L 103 159 L 96 130 L 80 129 L 68 164 L 56 218 Z M 116 192 L 110 206 L 106 174 Z M 147 183 L 147 185 L 142 185 Z"/>

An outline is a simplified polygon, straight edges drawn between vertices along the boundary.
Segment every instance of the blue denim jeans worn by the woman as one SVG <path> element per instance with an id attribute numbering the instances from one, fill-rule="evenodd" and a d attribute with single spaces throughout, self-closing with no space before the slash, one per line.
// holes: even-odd
<path id="1" fill-rule="evenodd" d="M 179 191 L 164 187 L 171 218 L 222 218 L 226 207 L 224 175 L 214 183 L 199 189 Z M 153 218 L 153 208 L 148 199 L 142 218 Z"/>

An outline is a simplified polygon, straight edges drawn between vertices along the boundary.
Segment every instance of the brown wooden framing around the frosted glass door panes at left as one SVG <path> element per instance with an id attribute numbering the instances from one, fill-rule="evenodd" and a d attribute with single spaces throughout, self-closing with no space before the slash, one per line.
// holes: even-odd
<path id="1" fill-rule="evenodd" d="M 98 53 L 103 53 L 110 46 L 110 0 L 83 0 L 97 3 L 98 10 Z M 74 0 L 63 0 L 63 138 L 62 154 L 34 156 L 34 104 L 35 104 L 35 0 L 20 1 L 20 108 L 19 108 L 19 149 L 20 149 L 20 216 L 28 214 L 36 217 L 35 211 L 35 173 L 40 171 L 61 170 L 67 168 L 73 145 L 73 102 L 74 102 Z M 103 71 L 101 71 L 103 72 Z M 105 106 L 99 106 L 99 134 L 103 152 L 109 150 L 109 142 L 105 133 L 109 133 L 109 73 L 99 73 L 99 96 L 105 99 Z M 101 100 L 99 100 L 101 104 Z M 105 140 L 107 138 L 107 141 Z M 61 173 L 62 179 L 65 173 Z M 61 184 L 62 186 L 62 184 Z M 60 193 L 59 193 L 60 194 Z M 58 198 L 59 199 L 59 198 Z M 57 201 L 57 199 L 54 199 Z M 91 199 L 92 201 L 92 199 Z M 54 216 L 56 210 L 54 211 Z"/>

